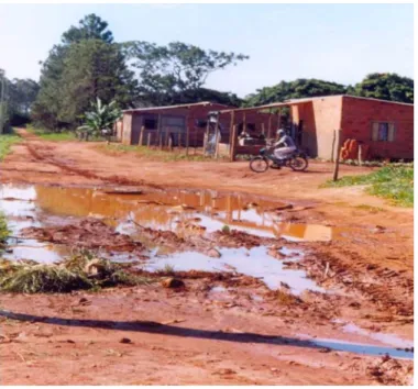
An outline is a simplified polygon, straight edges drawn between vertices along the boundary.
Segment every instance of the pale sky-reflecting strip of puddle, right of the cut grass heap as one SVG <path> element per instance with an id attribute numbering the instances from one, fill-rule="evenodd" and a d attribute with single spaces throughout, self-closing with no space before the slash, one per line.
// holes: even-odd
<path id="1" fill-rule="evenodd" d="M 153 257 L 144 269 L 155 271 L 164 266 L 174 266 L 176 270 L 202 270 L 202 271 L 229 271 L 241 273 L 261 279 L 271 289 L 280 288 L 280 282 L 286 282 L 294 294 L 300 294 L 309 289 L 314 291 L 324 290 L 312 280 L 306 278 L 302 270 L 286 270 L 283 263 L 266 254 L 266 247 L 221 248 L 220 258 L 211 258 L 200 253 L 175 253 L 169 257 Z"/>

